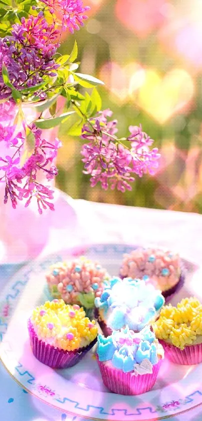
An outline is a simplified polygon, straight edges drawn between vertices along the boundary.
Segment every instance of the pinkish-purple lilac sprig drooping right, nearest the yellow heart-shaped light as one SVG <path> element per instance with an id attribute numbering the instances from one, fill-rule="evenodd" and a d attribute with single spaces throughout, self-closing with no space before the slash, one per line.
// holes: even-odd
<path id="1" fill-rule="evenodd" d="M 111 115 L 110 110 L 102 111 L 83 126 L 81 137 L 89 141 L 81 151 L 84 173 L 91 174 L 92 187 L 100 182 L 104 190 L 110 184 L 112 190 L 125 192 L 132 189 L 129 183 L 134 181 L 134 173 L 139 177 L 155 173 L 160 154 L 157 148 L 149 149 L 153 140 L 141 125 L 129 127 L 131 134 L 124 140 L 130 147 L 124 146 L 115 135 L 117 120 L 107 119 Z"/>

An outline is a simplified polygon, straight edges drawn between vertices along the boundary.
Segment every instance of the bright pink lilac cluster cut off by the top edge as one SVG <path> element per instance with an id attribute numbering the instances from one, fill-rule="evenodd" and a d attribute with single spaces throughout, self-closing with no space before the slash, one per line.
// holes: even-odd
<path id="1" fill-rule="evenodd" d="M 69 29 L 73 34 L 79 31 L 79 25 L 84 26 L 83 21 L 88 19 L 86 12 L 90 9 L 83 7 L 82 0 L 41 0 L 48 6 L 52 15 L 62 20 L 62 31 Z"/>

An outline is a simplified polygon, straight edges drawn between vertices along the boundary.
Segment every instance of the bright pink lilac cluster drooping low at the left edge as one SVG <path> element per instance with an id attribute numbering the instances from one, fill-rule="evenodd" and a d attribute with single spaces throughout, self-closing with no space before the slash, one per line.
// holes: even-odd
<path id="1" fill-rule="evenodd" d="M 42 137 L 42 130 L 35 124 L 26 125 L 23 123 L 23 130 L 16 132 L 16 125 L 3 126 L 0 123 L 0 140 L 10 147 L 13 154 L 0 157 L 0 181 L 4 181 L 5 197 L 4 203 L 10 197 L 12 206 L 15 209 L 18 200 L 26 199 L 25 206 L 29 206 L 33 197 L 38 203 L 38 211 L 50 208 L 54 210 L 53 190 L 49 186 L 44 186 L 38 182 L 38 173 L 44 172 L 47 180 L 52 180 L 58 170 L 54 166 L 57 150 L 61 147 L 61 142 L 56 138 L 54 144 L 47 142 Z M 28 159 L 22 164 L 22 157 L 26 154 L 26 133 L 34 135 L 34 148 Z M 7 149 L 6 149 L 7 150 Z"/>

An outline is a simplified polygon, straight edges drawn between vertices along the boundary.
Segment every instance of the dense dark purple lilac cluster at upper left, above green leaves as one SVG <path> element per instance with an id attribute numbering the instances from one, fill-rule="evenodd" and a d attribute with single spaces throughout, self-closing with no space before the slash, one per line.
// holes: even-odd
<path id="1" fill-rule="evenodd" d="M 12 36 L 0 38 L 0 99 L 11 94 L 3 80 L 3 65 L 18 90 L 38 85 L 44 76 L 56 76 L 59 65 L 53 56 L 59 47 L 58 36 L 55 24 L 48 24 L 40 12 L 36 18 L 22 18 L 21 24 L 13 25 Z"/>

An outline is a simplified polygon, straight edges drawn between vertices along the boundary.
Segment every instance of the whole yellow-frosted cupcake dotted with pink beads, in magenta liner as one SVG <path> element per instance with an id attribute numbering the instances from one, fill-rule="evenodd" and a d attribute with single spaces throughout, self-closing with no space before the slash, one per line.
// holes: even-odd
<path id="1" fill-rule="evenodd" d="M 52 368 L 78 363 L 97 342 L 98 334 L 95 321 L 85 317 L 82 308 L 57 299 L 33 310 L 28 330 L 33 354 Z"/>

